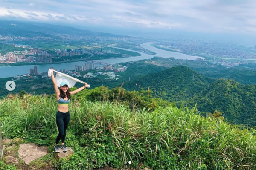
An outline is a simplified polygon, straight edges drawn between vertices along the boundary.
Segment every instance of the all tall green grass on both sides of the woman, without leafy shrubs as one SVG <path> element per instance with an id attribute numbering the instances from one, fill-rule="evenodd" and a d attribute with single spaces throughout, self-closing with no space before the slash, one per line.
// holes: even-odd
<path id="1" fill-rule="evenodd" d="M 45 138 L 57 133 L 55 100 L 35 95 L 1 100 L 3 138 L 22 136 L 12 136 L 17 129 L 41 139 L 43 133 Z M 122 162 L 142 162 L 153 169 L 255 170 L 255 131 L 239 130 L 218 118 L 201 117 L 196 108 L 169 106 L 153 112 L 132 111 L 116 102 L 76 98 L 70 103 L 70 115 L 69 129 L 73 132 L 80 132 L 95 120 L 91 131 L 97 128 L 111 134 Z"/>

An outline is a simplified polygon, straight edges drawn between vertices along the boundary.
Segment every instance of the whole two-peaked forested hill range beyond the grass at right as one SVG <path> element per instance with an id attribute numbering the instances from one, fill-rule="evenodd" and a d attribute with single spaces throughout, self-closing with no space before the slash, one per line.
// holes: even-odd
<path id="1" fill-rule="evenodd" d="M 153 96 L 167 101 L 197 104 L 203 113 L 222 113 L 233 124 L 255 126 L 255 85 L 243 85 L 231 79 L 212 79 L 202 76 L 186 66 L 176 66 L 151 73 L 124 84 L 132 90 L 135 84 L 151 89 Z"/>

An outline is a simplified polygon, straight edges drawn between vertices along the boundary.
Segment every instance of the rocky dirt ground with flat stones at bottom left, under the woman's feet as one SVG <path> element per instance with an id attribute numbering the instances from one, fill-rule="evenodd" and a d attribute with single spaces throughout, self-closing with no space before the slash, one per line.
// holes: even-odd
<path id="1" fill-rule="evenodd" d="M 15 164 L 19 170 L 56 170 L 56 161 L 72 154 L 71 148 L 68 148 L 65 153 L 55 153 L 47 146 L 38 146 L 34 143 L 23 144 L 20 138 L 3 139 L 3 161 L 6 164 Z M 52 157 L 55 159 L 52 160 Z M 99 170 L 116 169 L 105 167 Z M 136 170 L 140 170 L 140 168 Z M 143 170 L 149 169 L 145 167 Z"/>

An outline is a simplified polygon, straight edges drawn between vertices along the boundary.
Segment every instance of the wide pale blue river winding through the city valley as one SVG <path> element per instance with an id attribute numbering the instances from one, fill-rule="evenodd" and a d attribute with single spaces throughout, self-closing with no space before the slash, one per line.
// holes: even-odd
<path id="1" fill-rule="evenodd" d="M 109 64 L 117 64 L 117 63 L 125 63 L 129 61 L 138 61 L 138 60 L 143 60 L 143 59 L 150 59 L 155 56 L 157 57 L 163 57 L 163 58 L 175 58 L 175 59 L 187 59 L 187 60 L 195 60 L 196 58 L 202 58 L 198 56 L 191 56 L 191 55 L 186 55 L 180 52 L 170 52 L 170 51 L 165 51 L 162 49 L 157 49 L 150 44 L 154 42 L 147 42 L 140 44 L 140 46 L 144 49 L 148 49 L 152 52 L 155 52 L 155 55 L 149 55 L 143 52 L 138 52 L 134 51 L 131 49 L 124 49 L 124 48 L 118 48 L 118 49 L 124 49 L 127 51 L 133 51 L 133 52 L 138 52 L 141 54 L 141 56 L 136 56 L 136 57 L 128 57 L 128 58 L 109 58 L 109 59 L 103 59 L 103 60 L 94 60 L 94 61 L 99 61 L 99 62 L 104 62 L 104 63 L 109 63 Z M 117 47 L 113 47 L 117 48 Z M 84 65 L 84 61 L 76 61 L 76 62 L 69 62 L 69 63 L 51 63 L 51 64 L 40 64 L 36 65 L 38 68 L 38 72 L 47 72 L 49 68 L 53 67 L 55 70 L 60 70 L 60 69 L 66 69 L 66 70 L 74 70 L 75 65 Z M 28 74 L 30 69 L 34 69 L 35 65 L 25 65 L 25 66 L 0 66 L 0 78 L 7 78 L 7 77 L 14 77 L 17 75 L 25 75 Z M 99 65 L 96 65 L 99 66 Z"/>

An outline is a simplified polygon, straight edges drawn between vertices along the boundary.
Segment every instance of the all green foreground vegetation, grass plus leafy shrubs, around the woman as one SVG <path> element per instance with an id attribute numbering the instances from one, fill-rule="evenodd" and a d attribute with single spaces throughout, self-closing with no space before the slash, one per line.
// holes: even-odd
<path id="1" fill-rule="evenodd" d="M 22 138 L 23 143 L 49 146 L 49 154 L 41 163 L 59 170 L 105 166 L 255 170 L 255 130 L 239 130 L 219 117 L 201 117 L 195 107 L 158 103 L 147 91 L 111 90 L 101 87 L 72 96 L 66 145 L 74 154 L 69 159 L 56 162 L 53 158 L 57 135 L 54 96 L 21 92 L 2 98 L 3 138 Z M 1 170 L 16 168 L 6 164 L 5 159 L 0 164 Z M 37 166 L 41 168 L 40 163 Z"/>

